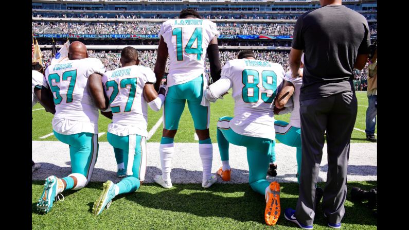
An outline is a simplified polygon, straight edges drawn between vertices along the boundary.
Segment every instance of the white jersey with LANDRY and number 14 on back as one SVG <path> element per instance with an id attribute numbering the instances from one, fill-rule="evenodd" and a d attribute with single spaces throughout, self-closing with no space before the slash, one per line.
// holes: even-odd
<path id="1" fill-rule="evenodd" d="M 201 19 L 170 19 L 161 25 L 169 53 L 167 86 L 182 84 L 205 72 L 206 49 L 219 37 L 216 23 Z"/>

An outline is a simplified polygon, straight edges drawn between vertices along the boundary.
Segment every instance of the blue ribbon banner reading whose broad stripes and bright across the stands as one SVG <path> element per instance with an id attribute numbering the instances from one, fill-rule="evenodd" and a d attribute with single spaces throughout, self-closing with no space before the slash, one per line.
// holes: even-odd
<path id="1" fill-rule="evenodd" d="M 34 33 L 34 38 L 70 38 L 70 39 L 81 39 L 81 38 L 91 38 L 91 39 L 159 39 L 157 34 L 59 34 L 59 33 Z M 271 35 L 225 35 L 221 34 L 219 39 L 245 39 L 245 40 L 257 40 L 257 39 L 293 39 L 293 36 L 271 36 Z"/>

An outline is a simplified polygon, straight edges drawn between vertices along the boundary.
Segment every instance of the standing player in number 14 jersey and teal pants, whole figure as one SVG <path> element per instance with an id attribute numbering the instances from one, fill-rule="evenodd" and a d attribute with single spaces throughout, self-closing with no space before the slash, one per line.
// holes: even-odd
<path id="1" fill-rule="evenodd" d="M 216 24 L 202 20 L 192 9 L 181 11 L 179 19 L 164 22 L 159 31 L 158 55 L 154 73 L 155 89 L 159 89 L 165 73 L 169 55 L 168 91 L 163 110 L 163 134 L 159 153 L 162 175 L 155 175 L 154 181 L 164 188 L 171 188 L 171 161 L 174 152 L 173 139 L 179 120 L 187 106 L 193 118 L 194 128 L 199 137 L 199 154 L 203 165 L 202 187 L 208 188 L 217 181 L 211 174 L 213 148 L 209 135 L 210 105 L 203 97 L 208 76 L 205 74 L 206 52 L 210 62 L 210 74 L 214 82 L 220 78 L 221 65 Z"/>

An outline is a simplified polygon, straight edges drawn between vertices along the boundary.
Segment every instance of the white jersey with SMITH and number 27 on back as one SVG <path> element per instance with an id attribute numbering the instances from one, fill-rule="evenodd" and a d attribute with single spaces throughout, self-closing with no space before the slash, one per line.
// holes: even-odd
<path id="1" fill-rule="evenodd" d="M 117 68 L 102 76 L 113 114 L 108 132 L 148 136 L 148 104 L 143 94 L 147 82 L 155 83 L 156 77 L 151 68 L 143 65 Z"/>

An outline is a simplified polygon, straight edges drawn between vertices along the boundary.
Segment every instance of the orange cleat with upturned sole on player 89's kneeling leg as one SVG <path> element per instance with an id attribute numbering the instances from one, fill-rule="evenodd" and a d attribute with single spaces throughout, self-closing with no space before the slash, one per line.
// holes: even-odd
<path id="1" fill-rule="evenodd" d="M 280 184 L 271 182 L 269 190 L 265 194 L 264 220 L 267 225 L 274 225 L 280 217 Z"/>

